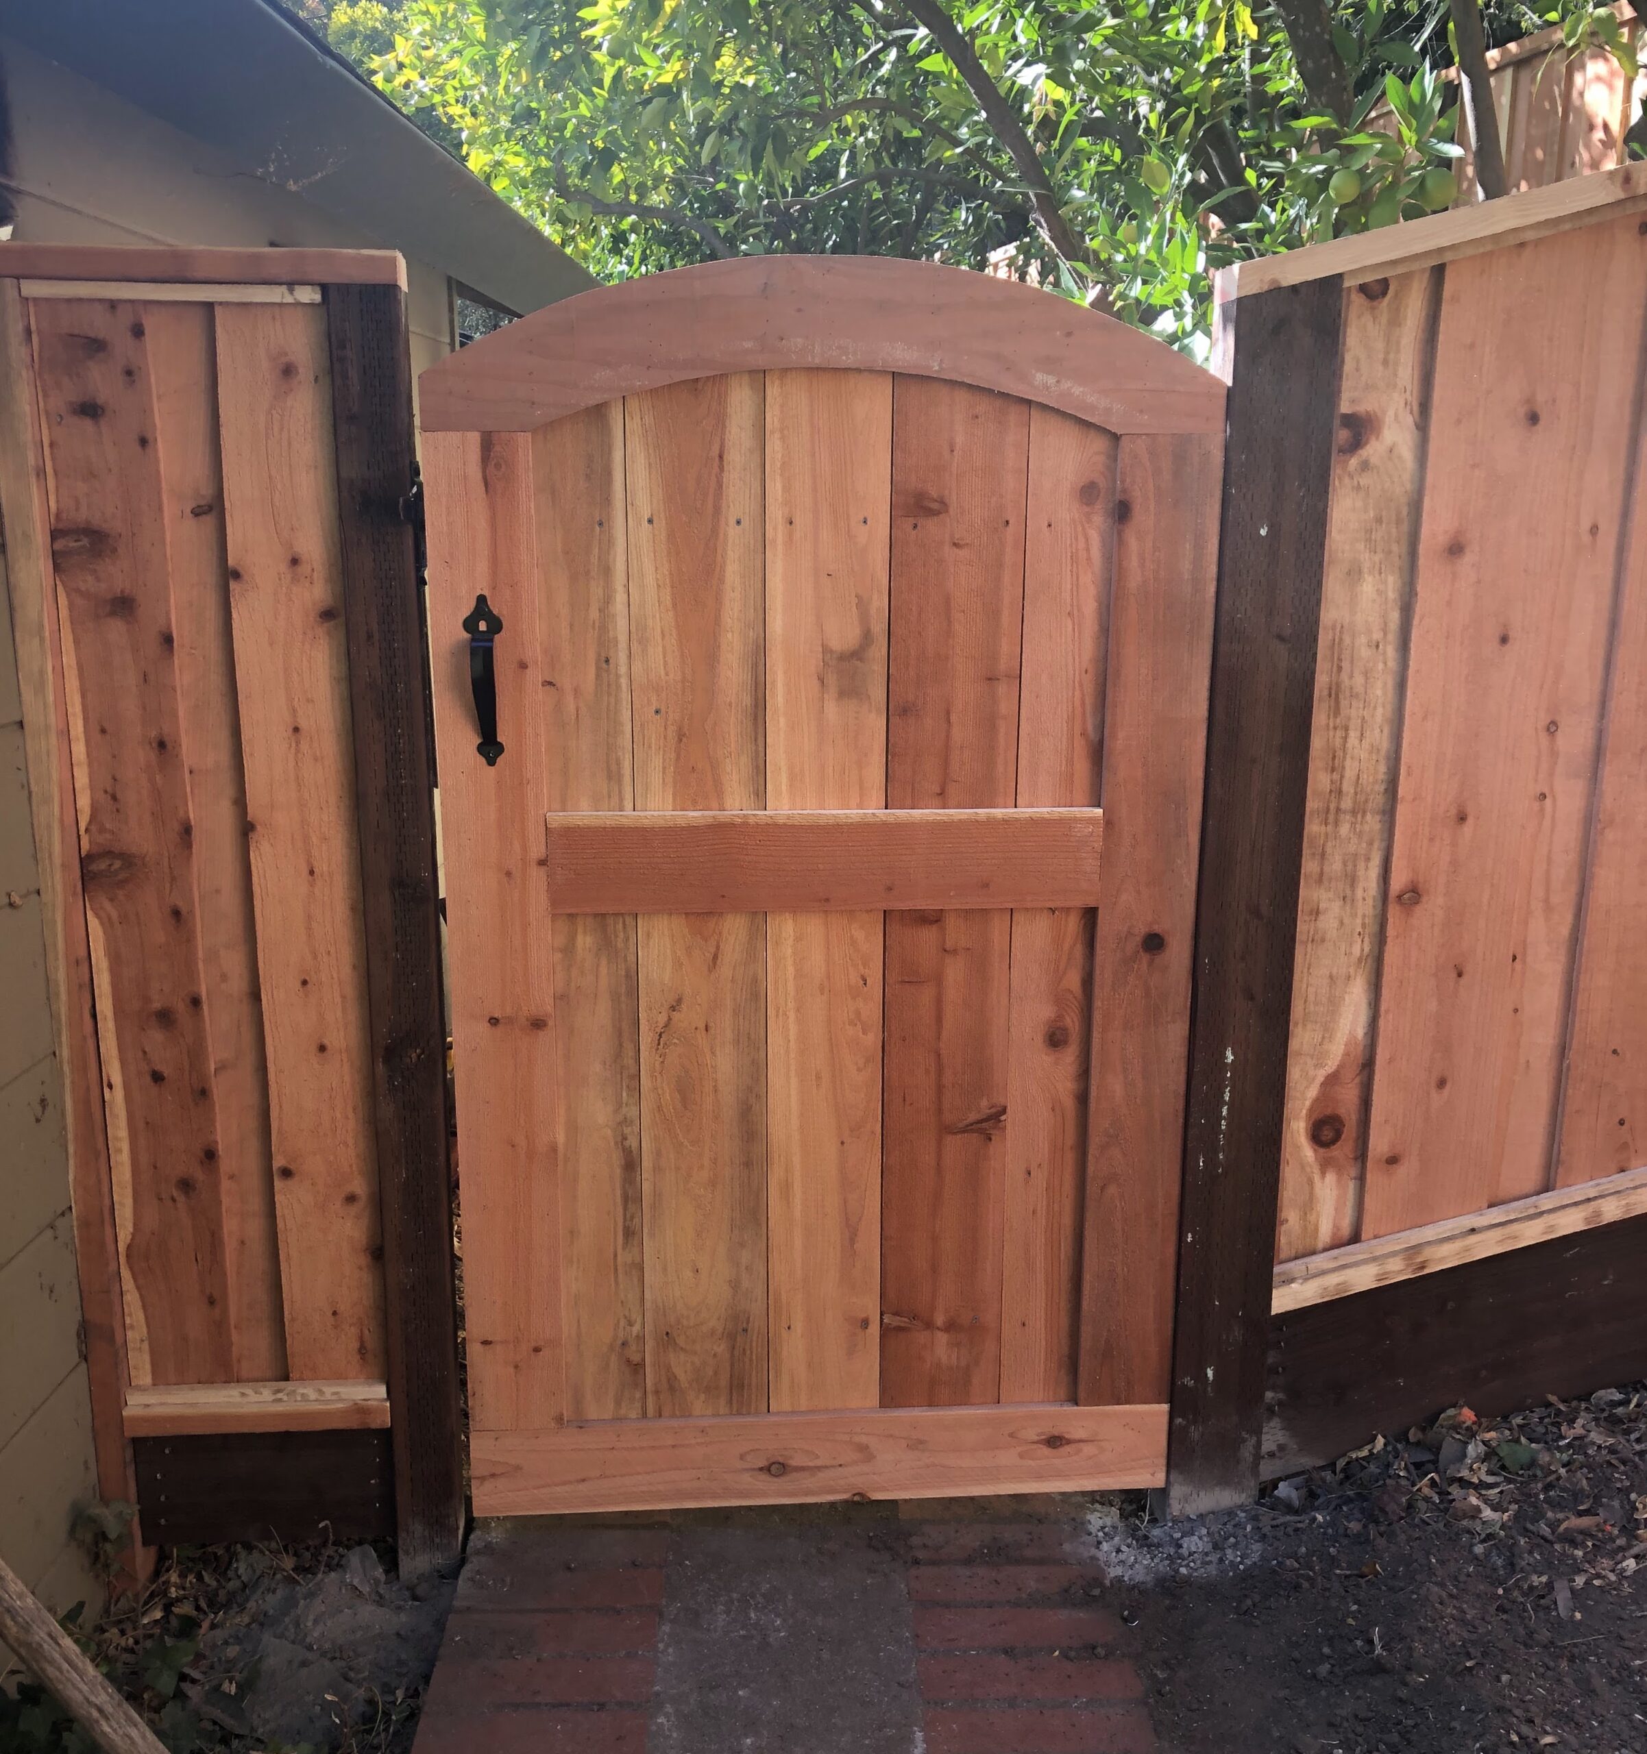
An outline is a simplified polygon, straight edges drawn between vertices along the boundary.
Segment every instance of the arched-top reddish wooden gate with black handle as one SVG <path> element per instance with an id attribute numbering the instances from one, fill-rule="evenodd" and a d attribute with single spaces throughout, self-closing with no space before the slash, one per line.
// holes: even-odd
<path id="1" fill-rule="evenodd" d="M 858 258 L 423 375 L 477 1512 L 1161 1484 L 1223 402 Z"/>

